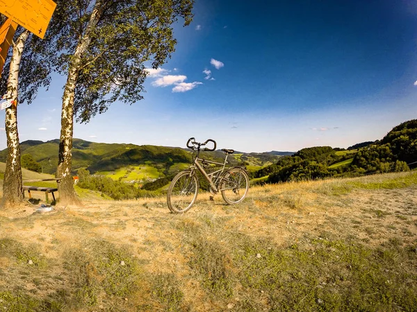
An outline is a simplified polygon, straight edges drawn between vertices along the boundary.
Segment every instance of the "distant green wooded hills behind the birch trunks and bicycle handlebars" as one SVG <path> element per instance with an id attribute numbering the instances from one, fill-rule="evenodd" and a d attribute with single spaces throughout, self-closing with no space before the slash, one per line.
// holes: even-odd
<path id="1" fill-rule="evenodd" d="M 58 164 L 59 140 L 36 141 L 28 140 L 20 144 L 22 155 L 28 154 L 42 167 L 42 172 L 54 174 Z M 204 152 L 202 156 L 207 159 L 222 162 L 224 153 L 220 150 Z M 6 162 L 7 149 L 0 151 L 0 162 Z M 270 153 L 241 153 L 236 152 L 229 156 L 230 164 L 247 164 L 252 166 L 265 166 L 277 162 L 279 155 Z M 73 140 L 72 171 L 76 173 L 79 168 L 87 168 L 90 173 L 99 171 L 115 171 L 122 167 L 137 166 L 145 163 L 158 165 L 162 171 L 169 171 L 174 164 L 190 164 L 191 153 L 187 148 L 151 146 L 135 144 L 106 144 Z M 174 168 L 172 168 L 174 171 Z"/>

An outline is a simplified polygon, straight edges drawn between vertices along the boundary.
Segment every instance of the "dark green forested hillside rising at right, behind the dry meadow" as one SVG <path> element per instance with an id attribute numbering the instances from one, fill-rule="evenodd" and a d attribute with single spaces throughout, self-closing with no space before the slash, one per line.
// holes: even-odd
<path id="1" fill-rule="evenodd" d="M 395 126 L 381 141 L 363 142 L 347 150 L 330 146 L 303 148 L 261 168 L 254 177 L 265 177 L 262 182 L 275 183 L 407 171 L 416 168 L 416 164 L 417 119 L 414 119 Z"/>

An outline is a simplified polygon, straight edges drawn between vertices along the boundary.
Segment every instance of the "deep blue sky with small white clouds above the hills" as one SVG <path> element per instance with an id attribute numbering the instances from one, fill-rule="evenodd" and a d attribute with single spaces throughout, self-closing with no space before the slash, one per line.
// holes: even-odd
<path id="1" fill-rule="evenodd" d="M 382 139 L 417 118 L 416 1 L 197 0 L 194 13 L 174 27 L 177 51 L 149 71 L 145 99 L 113 103 L 74 137 L 297 151 Z M 59 138 L 64 83 L 54 76 L 19 105 L 21 141 Z"/>

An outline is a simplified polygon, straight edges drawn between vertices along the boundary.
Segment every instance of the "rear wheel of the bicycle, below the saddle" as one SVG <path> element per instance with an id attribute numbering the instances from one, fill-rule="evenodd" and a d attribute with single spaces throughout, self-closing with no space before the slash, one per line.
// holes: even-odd
<path id="1" fill-rule="evenodd" d="M 229 205 L 238 204 L 249 189 L 249 177 L 242 168 L 231 168 L 222 177 L 222 197 Z"/>

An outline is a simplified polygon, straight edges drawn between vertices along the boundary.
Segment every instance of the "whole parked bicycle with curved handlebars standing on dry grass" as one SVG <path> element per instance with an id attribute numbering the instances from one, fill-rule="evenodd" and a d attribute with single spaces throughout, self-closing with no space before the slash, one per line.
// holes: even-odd
<path id="1" fill-rule="evenodd" d="M 174 214 L 181 214 L 193 207 L 199 191 L 197 171 L 202 173 L 204 179 L 210 184 L 210 193 L 214 196 L 221 192 L 223 200 L 229 205 L 242 202 L 249 190 L 249 176 L 245 166 L 226 168 L 227 157 L 233 154 L 234 150 L 222 149 L 226 155 L 224 163 L 199 158 L 202 146 L 206 146 L 208 143 L 213 143 L 213 148 L 204 148 L 203 151 L 213 152 L 217 144 L 212 139 L 198 143 L 192 137 L 187 141 L 186 146 L 193 150 L 193 164 L 185 171 L 175 175 L 167 191 L 167 205 Z M 222 168 L 207 173 L 204 166 L 211 165 L 222 166 Z"/>

